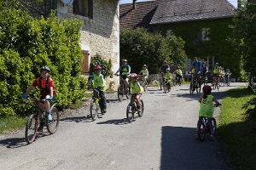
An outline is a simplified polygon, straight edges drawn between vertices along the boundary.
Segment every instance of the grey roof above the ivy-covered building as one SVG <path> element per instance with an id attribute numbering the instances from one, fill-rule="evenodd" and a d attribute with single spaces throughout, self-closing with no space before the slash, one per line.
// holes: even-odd
<path id="1" fill-rule="evenodd" d="M 227 0 L 160 0 L 150 24 L 230 18 L 235 11 Z"/>

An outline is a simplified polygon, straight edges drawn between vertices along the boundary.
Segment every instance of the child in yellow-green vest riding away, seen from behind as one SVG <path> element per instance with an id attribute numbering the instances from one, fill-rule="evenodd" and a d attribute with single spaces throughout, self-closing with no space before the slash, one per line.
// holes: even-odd
<path id="1" fill-rule="evenodd" d="M 197 131 L 202 123 L 203 117 L 207 117 L 207 124 L 211 130 L 211 137 L 214 139 L 213 136 L 213 127 L 212 127 L 212 115 L 213 115 L 213 102 L 217 105 L 221 105 L 214 96 L 211 95 L 212 88 L 209 85 L 205 85 L 203 88 L 203 94 L 201 94 L 198 101 L 200 102 L 200 110 L 199 110 L 199 119 L 197 122 L 195 138 L 198 139 Z"/>

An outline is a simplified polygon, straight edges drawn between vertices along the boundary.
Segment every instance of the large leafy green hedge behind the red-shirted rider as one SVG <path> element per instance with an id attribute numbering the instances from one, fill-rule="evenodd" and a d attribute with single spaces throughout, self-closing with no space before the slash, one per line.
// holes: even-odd
<path id="1" fill-rule="evenodd" d="M 19 7 L 18 7 L 19 8 Z M 59 109 L 84 97 L 85 79 L 80 77 L 79 20 L 33 19 L 25 11 L 0 3 L 0 116 L 24 116 L 33 107 L 22 94 L 40 76 L 43 65 L 50 68 Z M 30 95 L 39 97 L 39 90 Z"/>

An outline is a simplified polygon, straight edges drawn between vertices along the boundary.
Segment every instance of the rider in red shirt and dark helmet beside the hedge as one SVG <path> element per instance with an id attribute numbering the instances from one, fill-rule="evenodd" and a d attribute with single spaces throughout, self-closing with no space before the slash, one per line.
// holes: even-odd
<path id="1" fill-rule="evenodd" d="M 49 101 L 52 100 L 55 97 L 56 91 L 55 91 L 55 84 L 53 80 L 49 77 L 49 67 L 43 66 L 40 69 L 41 77 L 38 77 L 33 83 L 30 88 L 26 90 L 26 93 L 23 94 L 23 98 L 26 99 L 27 94 L 29 94 L 33 88 L 40 88 L 41 90 L 41 98 L 40 99 L 46 99 L 44 103 L 39 103 L 40 110 L 46 109 L 46 114 L 48 117 L 48 120 L 51 121 L 52 117 L 49 114 Z M 40 124 L 41 127 L 41 124 Z"/>

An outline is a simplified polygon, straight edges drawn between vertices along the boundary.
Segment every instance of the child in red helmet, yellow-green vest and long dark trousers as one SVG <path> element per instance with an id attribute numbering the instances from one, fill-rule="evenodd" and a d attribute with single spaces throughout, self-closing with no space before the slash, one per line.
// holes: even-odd
<path id="1" fill-rule="evenodd" d="M 90 77 L 90 80 L 87 82 L 86 86 L 88 86 L 90 84 L 90 82 L 92 82 L 93 88 L 95 88 L 95 89 L 100 88 L 100 89 L 98 89 L 99 95 L 101 98 L 99 101 L 99 105 L 101 107 L 102 112 L 106 113 L 107 112 L 107 104 L 106 104 L 107 102 L 106 102 L 104 91 L 107 87 L 105 87 L 105 81 L 104 81 L 103 75 L 101 74 L 102 67 L 100 65 L 96 65 L 94 67 L 94 70 L 95 70 L 95 74 L 93 74 Z"/>

